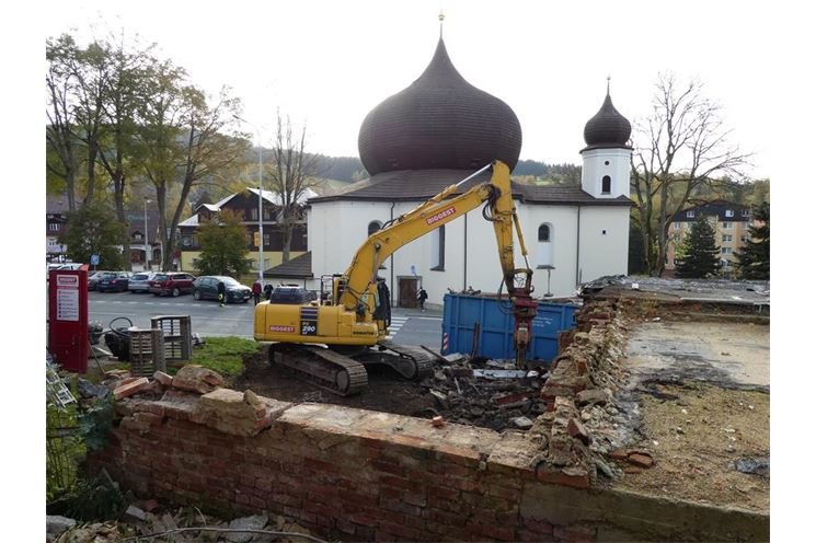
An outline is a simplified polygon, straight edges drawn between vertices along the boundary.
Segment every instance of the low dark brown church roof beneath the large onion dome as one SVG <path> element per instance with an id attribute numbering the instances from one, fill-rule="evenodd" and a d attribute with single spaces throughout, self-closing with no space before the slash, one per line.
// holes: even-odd
<path id="1" fill-rule="evenodd" d="M 424 201 L 436 196 L 444 188 L 459 183 L 469 172 L 462 170 L 400 170 L 384 172 L 368 180 L 353 183 L 330 195 L 309 199 L 309 204 L 337 200 L 364 201 Z M 491 172 L 485 171 L 462 184 L 457 194 L 487 183 Z M 604 205 L 631 206 L 633 203 L 625 196 L 619 198 L 597 199 L 582 190 L 579 185 L 526 185 L 513 183 L 513 196 L 525 203 L 551 205 Z"/>

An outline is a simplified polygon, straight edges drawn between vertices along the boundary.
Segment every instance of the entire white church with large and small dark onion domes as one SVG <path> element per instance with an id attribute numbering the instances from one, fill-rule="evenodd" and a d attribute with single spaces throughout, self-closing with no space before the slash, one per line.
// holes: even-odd
<path id="1" fill-rule="evenodd" d="M 584 129 L 581 186 L 514 182 L 513 197 L 535 270 L 533 296 L 572 296 L 584 282 L 627 274 L 633 205 L 630 132 L 631 125 L 612 105 L 607 86 L 600 109 Z M 425 71 L 363 119 L 359 155 L 370 177 L 311 198 L 309 253 L 265 275 L 299 278 L 309 288 L 320 288 L 321 276 L 345 272 L 363 241 L 388 221 L 493 160 L 513 171 L 521 138 L 513 108 L 459 73 L 440 34 Z M 489 178 L 490 169 L 459 189 Z M 297 275 L 286 275 L 288 268 Z M 449 290 L 497 292 L 502 270 L 493 226 L 481 213 L 470 212 L 396 251 L 379 276 L 387 280 L 396 307 L 414 307 L 420 287 L 428 293 L 428 307 L 440 307 Z"/>

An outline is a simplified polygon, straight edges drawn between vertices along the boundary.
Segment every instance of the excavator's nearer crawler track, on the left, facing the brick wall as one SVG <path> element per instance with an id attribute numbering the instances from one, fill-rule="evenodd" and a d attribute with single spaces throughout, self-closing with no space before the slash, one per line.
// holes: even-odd
<path id="1" fill-rule="evenodd" d="M 294 370 L 300 378 L 338 396 L 356 394 L 368 385 L 365 366 L 324 347 L 273 344 L 269 363 Z"/>

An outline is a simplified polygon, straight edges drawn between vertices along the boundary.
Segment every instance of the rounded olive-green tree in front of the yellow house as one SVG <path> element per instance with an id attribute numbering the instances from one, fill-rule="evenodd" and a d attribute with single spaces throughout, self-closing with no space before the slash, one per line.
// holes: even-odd
<path id="1" fill-rule="evenodd" d="M 198 269 L 203 275 L 240 277 L 250 270 L 246 259 L 246 229 L 238 213 L 222 210 L 198 228 L 202 254 Z"/>

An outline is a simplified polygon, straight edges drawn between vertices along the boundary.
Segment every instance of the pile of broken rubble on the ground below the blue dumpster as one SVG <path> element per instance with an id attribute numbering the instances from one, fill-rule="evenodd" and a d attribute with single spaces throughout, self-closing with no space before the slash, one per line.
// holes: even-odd
<path id="1" fill-rule="evenodd" d="M 421 384 L 436 400 L 436 407 L 417 415 L 441 416 L 450 423 L 492 430 L 529 430 L 544 413 L 541 386 L 544 368 L 518 370 L 514 361 L 449 355 Z"/>

